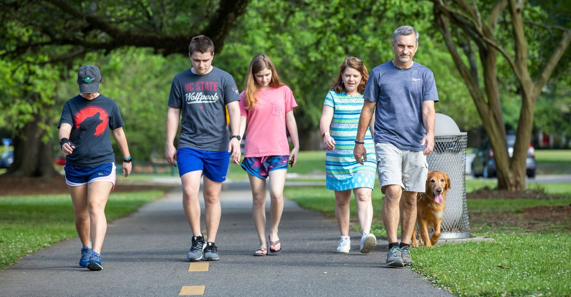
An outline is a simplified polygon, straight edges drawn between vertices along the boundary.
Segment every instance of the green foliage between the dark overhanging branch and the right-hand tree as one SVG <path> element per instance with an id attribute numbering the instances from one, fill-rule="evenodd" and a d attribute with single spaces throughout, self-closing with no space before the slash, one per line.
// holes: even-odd
<path id="1" fill-rule="evenodd" d="M 463 129 L 476 127 L 480 121 L 473 117 L 472 99 L 431 22 L 428 2 L 410 6 L 401 1 L 255 0 L 215 63 L 243 85 L 250 60 L 267 54 L 293 90 L 299 128 L 316 129 L 329 83 L 345 56 L 363 59 L 371 71 L 394 57 L 392 32 L 400 25 L 413 25 L 420 32 L 415 59 L 437 78 L 437 112 L 452 116 Z"/>

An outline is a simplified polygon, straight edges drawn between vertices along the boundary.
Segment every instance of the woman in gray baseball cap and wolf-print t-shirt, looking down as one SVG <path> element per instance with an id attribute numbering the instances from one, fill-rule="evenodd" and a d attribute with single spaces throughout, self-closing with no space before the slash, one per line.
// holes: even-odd
<path id="1" fill-rule="evenodd" d="M 59 143 L 66 155 L 65 177 L 82 242 L 79 267 L 102 270 L 101 247 L 107 230 L 105 204 L 115 186 L 115 154 L 110 132 L 123 154 L 123 174 L 131 173 L 131 156 L 123 120 L 115 101 L 99 93 L 99 68 L 86 65 L 77 75 L 79 95 L 63 105 Z M 93 244 L 92 244 L 93 243 Z"/>

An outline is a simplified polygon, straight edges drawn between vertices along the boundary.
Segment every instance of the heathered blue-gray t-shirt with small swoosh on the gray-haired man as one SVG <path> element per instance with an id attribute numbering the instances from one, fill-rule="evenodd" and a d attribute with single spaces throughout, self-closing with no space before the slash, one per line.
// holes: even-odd
<path id="1" fill-rule="evenodd" d="M 426 136 L 423 101 L 438 101 L 432 71 L 415 62 L 400 69 L 391 61 L 373 68 L 363 94 L 376 102 L 375 143 L 388 143 L 399 149 L 421 151 Z"/>

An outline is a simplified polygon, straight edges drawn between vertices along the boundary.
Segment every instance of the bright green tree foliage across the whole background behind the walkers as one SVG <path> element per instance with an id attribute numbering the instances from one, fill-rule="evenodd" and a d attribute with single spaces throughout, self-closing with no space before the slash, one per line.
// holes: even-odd
<path id="1" fill-rule="evenodd" d="M 70 3 L 77 7 L 85 6 L 83 2 Z M 184 31 L 188 23 L 206 18 L 205 11 L 208 10 L 204 7 L 216 7 L 216 3 L 218 1 L 143 1 L 141 9 L 131 4 L 126 5 L 123 1 L 103 1 L 92 9 L 118 20 L 115 25 L 120 28 L 176 34 Z M 493 1 L 480 1 L 478 5 L 480 4 L 484 6 L 482 14 L 487 17 Z M 198 13 L 179 14 L 177 7 L 181 6 Z M 545 7 L 532 3 L 526 6 L 524 17 L 549 23 L 546 16 L 550 11 L 565 9 L 560 6 L 557 2 L 549 2 Z M 55 8 L 50 6 L 49 9 Z M 2 47 L 4 50 L 14 49 L 21 42 L 41 40 L 44 36 L 43 32 L 30 25 L 33 22 L 28 19 L 38 11 L 30 10 L 29 16 L 23 11 L 20 13 L 21 18 L 11 18 L 3 25 L 6 30 L 2 35 L 6 36 L 6 43 Z M 505 21 L 504 16 L 501 18 Z M 125 19 L 131 21 L 126 22 Z M 38 21 L 52 24 L 54 31 L 61 29 L 64 35 L 66 33 L 63 29 L 70 26 L 69 23 L 45 15 Z M 565 19 L 553 22 L 553 25 L 566 25 Z M 363 59 L 371 71 L 375 66 L 393 58 L 392 32 L 400 25 L 412 25 L 420 33 L 415 60 L 431 68 L 436 76 L 440 97 L 436 111 L 451 116 L 463 130 L 478 127 L 481 119 L 475 116 L 477 112 L 471 96 L 452 63 L 441 34 L 433 26 L 432 3 L 428 1 L 411 6 L 397 0 L 252 0 L 246 14 L 228 34 L 224 50 L 216 52 L 213 64 L 230 72 L 242 90 L 250 60 L 256 54 L 269 55 L 284 82 L 293 90 L 299 104 L 294 112 L 299 129 L 303 132 L 317 129 L 325 93 L 345 56 Z M 504 23 L 498 27 L 501 27 L 498 29 L 499 42 L 509 44 L 509 27 Z M 536 30 L 535 27 L 526 29 L 526 34 L 528 33 L 532 36 L 528 38 L 529 67 L 536 70 L 551 48 L 544 44 L 553 42 L 557 36 L 545 34 L 545 30 Z M 106 34 L 96 34 L 96 31 L 86 34 L 94 42 L 108 40 Z M 455 38 L 461 39 L 463 36 Z M 505 47 L 510 54 L 513 52 L 509 46 Z M 181 48 L 180 52 L 186 52 L 186 48 Z M 186 55 L 164 57 L 156 55 L 150 49 L 127 47 L 110 53 L 96 51 L 85 56 L 79 55 L 73 63 L 65 65 L 45 63 L 48 58 L 74 53 L 73 46 L 59 46 L 52 47 L 45 54 L 29 52 L 21 56 L 21 60 L 1 59 L 0 126 L 17 132 L 26 123 L 37 120 L 39 115 L 46 117 L 46 123 L 42 124 L 44 140 L 55 137 L 55 125 L 63 103 L 77 94 L 75 71 L 82 64 L 91 63 L 99 66 L 104 76 L 102 93 L 119 104 L 133 156 L 138 160 L 162 157 L 170 82 L 176 73 L 190 67 Z M 0 55 L 2 54 L 0 49 Z M 568 56 L 566 54 L 562 61 Z M 509 127 L 515 128 L 521 104 L 517 82 L 500 55 L 497 68 L 504 120 Z M 562 70 L 554 76 L 565 82 L 569 77 L 565 72 L 568 70 L 558 67 L 557 71 L 560 68 Z M 481 69 L 479 72 L 481 75 Z M 568 127 L 571 120 L 568 120 L 569 94 L 566 89 L 557 86 L 557 93 L 550 93 L 549 96 L 544 96 L 544 100 L 540 99 L 536 111 L 537 128 L 549 133 L 557 133 L 561 130 L 560 127 L 565 127 L 564 131 L 571 129 Z M 58 147 L 54 145 L 54 152 L 57 150 Z"/>

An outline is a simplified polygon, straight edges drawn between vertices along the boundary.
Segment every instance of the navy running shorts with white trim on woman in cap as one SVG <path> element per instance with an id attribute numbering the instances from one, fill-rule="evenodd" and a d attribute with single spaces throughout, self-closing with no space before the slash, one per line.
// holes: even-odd
<path id="1" fill-rule="evenodd" d="M 68 164 L 63 170 L 65 170 L 66 173 L 66 184 L 70 186 L 81 186 L 94 181 L 109 181 L 113 184 L 111 191 L 115 188 L 115 162 L 91 167 Z"/>

